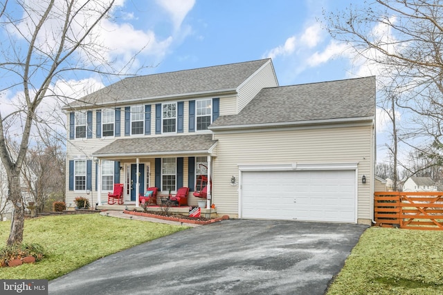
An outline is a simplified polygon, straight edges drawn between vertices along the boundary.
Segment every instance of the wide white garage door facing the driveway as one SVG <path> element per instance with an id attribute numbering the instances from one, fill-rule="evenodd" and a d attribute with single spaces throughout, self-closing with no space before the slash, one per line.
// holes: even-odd
<path id="1" fill-rule="evenodd" d="M 244 171 L 242 218 L 356 222 L 355 171 Z"/>

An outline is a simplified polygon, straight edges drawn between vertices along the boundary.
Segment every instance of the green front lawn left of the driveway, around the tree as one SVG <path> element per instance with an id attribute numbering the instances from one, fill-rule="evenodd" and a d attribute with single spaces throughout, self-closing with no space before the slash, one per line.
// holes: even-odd
<path id="1" fill-rule="evenodd" d="M 51 280 L 98 258 L 183 229 L 188 227 L 99 214 L 28 219 L 24 242 L 42 245 L 46 257 L 34 265 L 0 267 L 0 278 Z M 9 230 L 10 222 L 0 222 L 0 247 L 6 245 Z"/>

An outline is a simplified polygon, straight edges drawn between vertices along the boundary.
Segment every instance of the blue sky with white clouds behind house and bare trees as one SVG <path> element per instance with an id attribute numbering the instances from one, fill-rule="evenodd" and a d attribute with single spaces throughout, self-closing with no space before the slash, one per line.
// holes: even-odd
<path id="1" fill-rule="evenodd" d="M 96 33 L 98 41 L 111 48 L 103 55 L 117 64 L 125 64 L 143 48 L 133 67 L 149 66 L 139 72 L 143 75 L 267 57 L 272 58 L 280 86 L 375 75 L 376 68 L 356 62 L 347 46 L 329 37 L 318 21 L 323 20 L 323 10 L 343 10 L 351 3 L 363 5 L 362 0 L 116 0 L 112 16 L 117 21 L 105 19 Z M 46 31 L 53 30 L 56 21 Z M 46 41 L 42 46 L 50 47 Z M 108 84 L 90 72 L 66 73 L 63 80 L 53 81 L 53 89 L 80 98 Z M 0 95 L 2 115 L 12 112 L 20 99 L 19 91 Z M 48 116 L 60 113 L 55 104 L 49 99 L 42 109 Z M 381 160 L 380 146 L 387 135 L 378 113 Z M 60 118 L 66 120 L 65 115 Z"/>

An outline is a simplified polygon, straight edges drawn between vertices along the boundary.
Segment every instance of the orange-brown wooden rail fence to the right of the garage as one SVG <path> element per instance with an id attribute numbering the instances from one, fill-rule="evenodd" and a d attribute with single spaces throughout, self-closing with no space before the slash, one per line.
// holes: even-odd
<path id="1" fill-rule="evenodd" d="M 443 191 L 377 191 L 374 219 L 379 226 L 443 230 Z"/>

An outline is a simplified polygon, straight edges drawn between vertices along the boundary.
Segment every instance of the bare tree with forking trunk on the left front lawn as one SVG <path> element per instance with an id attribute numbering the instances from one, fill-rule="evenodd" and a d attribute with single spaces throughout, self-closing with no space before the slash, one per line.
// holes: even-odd
<path id="1" fill-rule="evenodd" d="M 12 111 L 3 106 L 0 110 L 0 158 L 8 175 L 8 199 L 15 212 L 7 245 L 23 240 L 20 175 L 35 126 L 46 123 L 39 110 L 42 104 L 65 98 L 55 93 L 54 81 L 66 75 L 77 77 L 84 71 L 124 75 L 130 68 L 128 64 L 114 68 L 116 64 L 106 59 L 109 48 L 98 41 L 98 26 L 109 19 L 113 6 L 114 0 L 0 3 L 0 93 L 20 93 Z M 19 143 L 17 154 L 8 147 L 10 137 Z"/>

